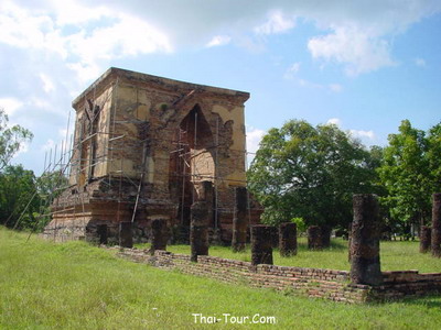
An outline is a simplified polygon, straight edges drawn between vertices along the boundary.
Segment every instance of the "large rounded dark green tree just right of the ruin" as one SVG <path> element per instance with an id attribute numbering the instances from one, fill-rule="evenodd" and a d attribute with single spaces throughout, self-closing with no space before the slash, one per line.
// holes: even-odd
<path id="1" fill-rule="evenodd" d="M 306 226 L 347 228 L 352 195 L 375 190 L 375 166 L 372 154 L 336 125 L 291 120 L 263 136 L 248 182 L 265 207 L 263 222 L 299 217 Z"/>

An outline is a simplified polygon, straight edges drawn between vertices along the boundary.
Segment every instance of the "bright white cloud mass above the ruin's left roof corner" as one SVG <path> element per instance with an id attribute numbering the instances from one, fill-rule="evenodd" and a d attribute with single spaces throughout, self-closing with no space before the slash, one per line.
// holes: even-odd
<path id="1" fill-rule="evenodd" d="M 31 11 L 4 1 L 0 4 L 0 43 L 55 53 L 78 74 L 80 81 L 96 78 L 111 59 L 172 51 L 163 32 L 136 15 L 109 8 L 83 7 L 74 1 L 67 1 L 66 6 L 65 1 L 52 1 L 52 6 L 55 18 L 49 14 L 51 8 Z M 107 20 L 105 26 L 86 24 L 99 19 Z M 76 24 L 75 29 L 72 24 Z M 66 28 L 72 32 L 66 33 Z M 43 89 L 52 91 L 51 78 L 43 74 L 40 78 Z"/>

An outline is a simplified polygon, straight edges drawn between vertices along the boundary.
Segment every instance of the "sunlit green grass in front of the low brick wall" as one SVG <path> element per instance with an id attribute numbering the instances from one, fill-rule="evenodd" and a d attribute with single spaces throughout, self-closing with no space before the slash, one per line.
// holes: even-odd
<path id="1" fill-rule="evenodd" d="M 399 244 L 398 250 L 406 245 Z M 195 323 L 192 314 L 216 316 L 220 321 Z M 277 323 L 233 324 L 232 319 L 225 321 L 223 314 L 248 317 L 250 321 L 255 315 L 273 317 Z M 26 242 L 25 234 L 0 228 L 0 329 L 440 329 L 440 326 L 441 297 L 383 305 L 336 304 L 135 264 L 84 242 L 55 244 L 35 237 Z"/>

